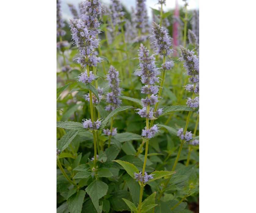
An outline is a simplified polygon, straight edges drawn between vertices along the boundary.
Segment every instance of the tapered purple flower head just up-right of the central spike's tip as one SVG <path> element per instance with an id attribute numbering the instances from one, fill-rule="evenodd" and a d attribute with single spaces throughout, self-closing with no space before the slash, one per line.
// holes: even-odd
<path id="1" fill-rule="evenodd" d="M 171 37 L 168 36 L 166 30 L 163 30 L 163 27 L 157 25 L 157 23 L 155 23 L 154 21 L 152 23 L 152 26 L 156 53 L 165 56 L 173 53 L 173 49 L 170 49 L 170 47 L 172 46 Z"/>

